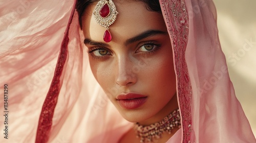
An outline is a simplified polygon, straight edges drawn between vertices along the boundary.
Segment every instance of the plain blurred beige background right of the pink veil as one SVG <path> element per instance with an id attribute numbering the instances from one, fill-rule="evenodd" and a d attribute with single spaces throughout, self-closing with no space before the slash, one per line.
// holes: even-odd
<path id="1" fill-rule="evenodd" d="M 230 78 L 256 136 L 256 1 L 214 2 Z"/>

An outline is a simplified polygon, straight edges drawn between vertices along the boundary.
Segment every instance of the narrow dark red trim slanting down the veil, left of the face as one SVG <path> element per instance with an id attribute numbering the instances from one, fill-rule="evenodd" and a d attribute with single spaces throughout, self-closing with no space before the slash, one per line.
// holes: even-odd
<path id="1" fill-rule="evenodd" d="M 69 19 L 65 37 L 63 38 L 63 41 L 61 43 L 60 53 L 59 53 L 54 77 L 40 113 L 37 132 L 36 132 L 36 140 L 35 140 L 36 143 L 45 143 L 48 141 L 50 136 L 54 109 L 57 104 L 60 87 L 62 85 L 61 74 L 68 56 L 69 29 L 70 29 L 70 25 L 75 12 L 75 6 L 76 6 L 76 2 L 74 4 L 73 11 Z"/>

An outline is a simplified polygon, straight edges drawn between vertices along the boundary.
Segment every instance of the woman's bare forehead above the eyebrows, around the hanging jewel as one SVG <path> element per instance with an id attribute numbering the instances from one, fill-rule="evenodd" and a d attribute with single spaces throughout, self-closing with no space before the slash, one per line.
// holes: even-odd
<path id="1" fill-rule="evenodd" d="M 93 12 L 96 4 L 90 5 L 82 17 L 82 30 L 86 38 L 102 41 L 104 27 L 101 27 Z M 130 3 L 115 3 L 118 12 L 116 21 L 109 27 L 113 41 L 123 41 L 147 30 L 166 31 L 161 13 L 149 11 L 145 3 L 131 1 Z"/>

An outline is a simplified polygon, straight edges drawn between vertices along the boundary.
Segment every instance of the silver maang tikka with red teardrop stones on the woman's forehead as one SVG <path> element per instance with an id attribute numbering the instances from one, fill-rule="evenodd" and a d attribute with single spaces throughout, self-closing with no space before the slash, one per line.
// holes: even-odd
<path id="1" fill-rule="evenodd" d="M 96 5 L 93 14 L 97 23 L 99 23 L 100 26 L 106 28 L 106 31 L 103 35 L 103 40 L 105 42 L 110 42 L 112 40 L 112 36 L 109 31 L 109 26 L 115 22 L 116 16 L 118 14 L 114 2 L 112 0 L 100 0 Z"/>

